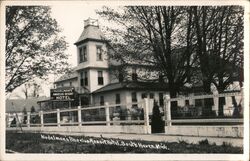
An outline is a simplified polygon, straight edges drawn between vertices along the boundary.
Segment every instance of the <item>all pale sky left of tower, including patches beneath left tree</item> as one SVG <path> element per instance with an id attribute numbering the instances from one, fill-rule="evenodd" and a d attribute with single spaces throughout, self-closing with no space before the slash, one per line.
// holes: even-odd
<path id="1" fill-rule="evenodd" d="M 96 14 L 96 10 L 101 9 L 102 5 L 93 5 L 93 4 L 56 4 L 50 5 L 51 7 L 51 16 L 55 18 L 58 22 L 59 27 L 62 29 L 60 33 L 61 36 L 65 36 L 66 41 L 68 42 L 68 49 L 65 51 L 69 55 L 68 62 L 74 67 L 77 65 L 77 49 L 74 43 L 80 37 L 84 29 L 84 20 L 88 18 L 98 19 L 100 27 L 104 25 L 100 17 Z M 37 82 L 42 86 L 41 96 L 50 96 L 50 89 L 53 88 L 53 82 L 57 79 L 53 75 L 50 76 L 49 80 Z M 22 86 L 17 88 L 12 94 L 7 96 L 7 98 L 24 98 L 24 93 L 22 92 Z"/>

